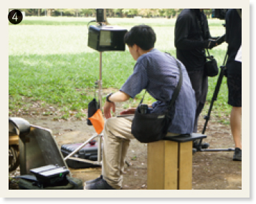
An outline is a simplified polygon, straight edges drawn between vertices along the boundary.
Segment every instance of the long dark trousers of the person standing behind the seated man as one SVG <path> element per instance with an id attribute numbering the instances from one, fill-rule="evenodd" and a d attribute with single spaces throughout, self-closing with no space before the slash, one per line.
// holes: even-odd
<path id="1" fill-rule="evenodd" d="M 196 94 L 196 117 L 194 121 L 194 131 L 197 132 L 199 115 L 204 108 L 208 92 L 208 77 L 204 74 L 204 69 L 188 72 L 189 78 Z"/>

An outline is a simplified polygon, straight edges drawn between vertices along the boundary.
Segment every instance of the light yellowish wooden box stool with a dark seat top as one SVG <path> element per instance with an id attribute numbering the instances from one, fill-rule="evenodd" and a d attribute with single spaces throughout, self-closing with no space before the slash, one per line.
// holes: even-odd
<path id="1" fill-rule="evenodd" d="M 193 141 L 206 137 L 192 133 L 148 143 L 148 190 L 191 190 Z"/>

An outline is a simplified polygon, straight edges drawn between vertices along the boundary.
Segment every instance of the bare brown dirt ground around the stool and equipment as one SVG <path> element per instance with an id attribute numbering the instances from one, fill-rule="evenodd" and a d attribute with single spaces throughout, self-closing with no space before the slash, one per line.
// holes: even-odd
<path id="1" fill-rule="evenodd" d="M 116 112 L 120 112 L 117 109 Z M 11 116 L 14 117 L 14 116 Z M 16 115 L 29 121 L 32 125 L 45 127 L 52 130 L 54 139 L 59 147 L 61 145 L 85 142 L 95 134 L 93 126 L 86 120 L 54 120 L 53 116 L 42 115 Z M 214 121 L 214 118 L 211 119 Z M 222 125 L 209 120 L 207 138 L 209 149 L 234 148 L 229 125 Z M 201 132 L 204 120 L 200 118 L 198 130 Z M 242 189 L 242 162 L 232 160 L 233 152 L 196 152 L 193 155 L 193 181 L 194 190 L 240 190 Z M 136 140 L 131 141 L 131 146 L 126 157 L 123 190 L 147 189 L 147 145 Z M 72 176 L 82 181 L 97 178 L 101 174 L 101 167 L 84 169 L 70 168 Z M 9 189 L 18 189 L 15 175 L 19 175 L 19 167 L 9 173 Z"/>

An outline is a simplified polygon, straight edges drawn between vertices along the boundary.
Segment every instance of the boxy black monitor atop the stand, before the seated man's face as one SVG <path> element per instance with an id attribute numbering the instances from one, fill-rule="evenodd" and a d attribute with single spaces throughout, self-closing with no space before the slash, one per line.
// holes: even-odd
<path id="1" fill-rule="evenodd" d="M 127 29 L 105 25 L 104 9 L 96 9 L 96 26 L 89 26 L 88 47 L 103 51 L 125 51 L 124 36 Z"/>

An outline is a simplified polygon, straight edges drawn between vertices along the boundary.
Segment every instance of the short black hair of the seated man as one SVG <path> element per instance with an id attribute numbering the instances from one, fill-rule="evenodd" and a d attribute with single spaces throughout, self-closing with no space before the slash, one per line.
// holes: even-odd
<path id="1" fill-rule="evenodd" d="M 141 49 L 148 50 L 154 47 L 156 34 L 151 26 L 133 26 L 133 28 L 125 34 L 124 42 L 129 47 L 133 47 L 133 44 L 137 44 Z"/>

